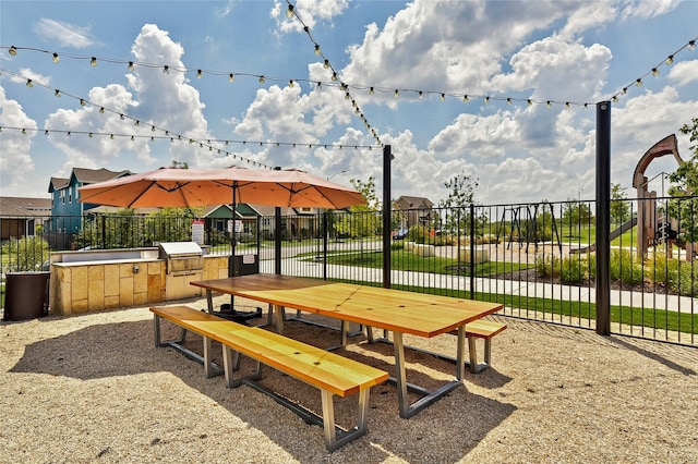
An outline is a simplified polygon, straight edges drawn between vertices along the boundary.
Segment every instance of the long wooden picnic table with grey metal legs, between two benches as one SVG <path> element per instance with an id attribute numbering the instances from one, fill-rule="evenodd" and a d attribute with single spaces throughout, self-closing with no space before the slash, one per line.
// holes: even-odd
<path id="1" fill-rule="evenodd" d="M 272 304 L 279 332 L 284 330 L 282 315 L 286 307 L 340 319 L 342 342 L 346 341 L 346 322 L 357 322 L 369 328 L 375 327 L 393 332 L 394 381 L 398 389 L 399 414 L 404 418 L 411 417 L 462 384 L 466 325 L 502 308 L 498 303 L 265 273 L 191 282 L 191 284 L 206 290 L 210 313 L 213 313 L 213 292 Z M 456 379 L 434 391 L 408 383 L 405 374 L 404 334 L 432 338 L 454 330 L 457 331 Z M 410 404 L 408 389 L 422 398 Z"/>

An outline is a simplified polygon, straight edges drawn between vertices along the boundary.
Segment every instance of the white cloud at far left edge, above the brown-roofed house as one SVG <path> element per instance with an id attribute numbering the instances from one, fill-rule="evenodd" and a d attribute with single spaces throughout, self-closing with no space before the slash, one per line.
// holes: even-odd
<path id="1" fill-rule="evenodd" d="M 32 196 L 35 188 L 34 160 L 29 155 L 37 124 L 24 112 L 22 105 L 8 99 L 4 87 L 0 86 L 0 125 L 27 129 L 26 134 L 5 129 L 0 136 L 0 187 L 2 195 Z"/>

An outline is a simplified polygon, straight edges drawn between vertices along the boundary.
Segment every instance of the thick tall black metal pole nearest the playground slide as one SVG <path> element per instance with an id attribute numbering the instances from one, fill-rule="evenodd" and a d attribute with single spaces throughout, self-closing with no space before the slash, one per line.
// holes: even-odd
<path id="1" fill-rule="evenodd" d="M 597 333 L 611 334 L 611 101 L 597 103 Z"/>

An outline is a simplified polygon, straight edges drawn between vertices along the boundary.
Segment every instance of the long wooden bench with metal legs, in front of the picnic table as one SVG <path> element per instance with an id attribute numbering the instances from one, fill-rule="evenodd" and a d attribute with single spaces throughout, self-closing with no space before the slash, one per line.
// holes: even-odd
<path id="1" fill-rule="evenodd" d="M 258 327 L 243 326 L 188 306 L 152 307 L 151 312 L 154 314 L 156 346 L 163 344 L 160 318 L 168 319 L 204 338 L 205 366 L 212 365 L 210 341 L 220 342 L 226 384 L 229 388 L 248 384 L 289 407 L 306 423 L 322 426 L 327 450 L 334 451 L 366 432 L 369 392 L 371 387 L 388 379 L 387 373 L 317 346 Z M 240 367 L 240 354 L 256 361 L 256 369 L 251 376 L 234 379 L 233 371 Z M 270 366 L 318 388 L 322 398 L 322 417 L 258 383 L 256 380 L 262 377 L 262 365 Z M 357 424 L 353 428 L 345 430 L 335 424 L 334 395 L 344 398 L 354 393 L 359 393 Z"/>

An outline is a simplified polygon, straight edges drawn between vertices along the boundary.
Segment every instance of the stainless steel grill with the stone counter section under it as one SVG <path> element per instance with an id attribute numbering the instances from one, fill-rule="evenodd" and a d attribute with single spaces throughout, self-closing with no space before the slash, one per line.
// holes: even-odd
<path id="1" fill-rule="evenodd" d="M 201 289 L 190 284 L 204 274 L 204 252 L 196 242 L 160 243 L 158 257 L 165 259 L 166 300 L 201 296 Z"/>

